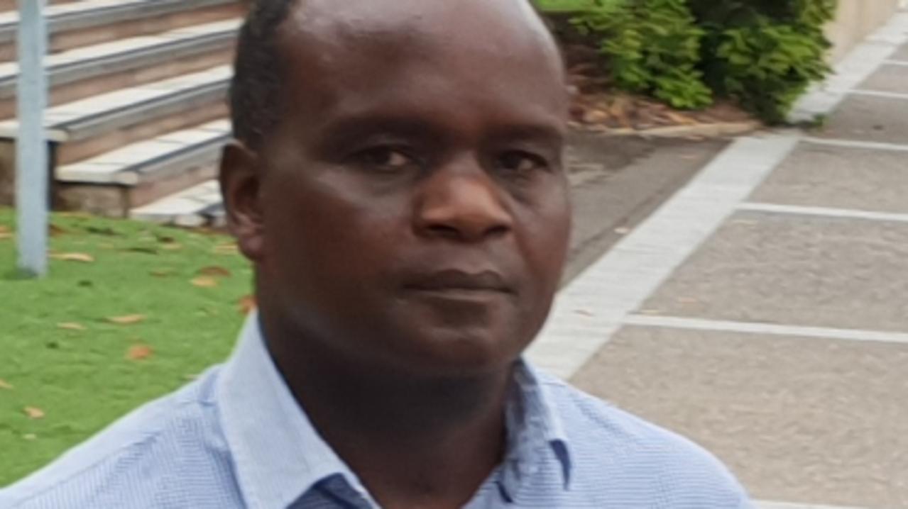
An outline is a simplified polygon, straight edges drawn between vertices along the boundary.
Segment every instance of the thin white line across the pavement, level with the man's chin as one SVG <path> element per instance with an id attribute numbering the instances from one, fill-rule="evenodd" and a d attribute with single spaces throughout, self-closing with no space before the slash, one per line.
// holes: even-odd
<path id="1" fill-rule="evenodd" d="M 874 343 L 908 344 L 908 334 L 882 330 L 859 330 L 851 328 L 802 327 L 756 322 L 735 322 L 708 320 L 703 318 L 656 317 L 652 315 L 631 315 L 624 319 L 624 325 L 654 328 L 679 328 L 707 332 L 737 332 L 762 334 L 765 336 L 787 336 L 795 338 L 842 339 L 846 341 L 870 341 Z"/>

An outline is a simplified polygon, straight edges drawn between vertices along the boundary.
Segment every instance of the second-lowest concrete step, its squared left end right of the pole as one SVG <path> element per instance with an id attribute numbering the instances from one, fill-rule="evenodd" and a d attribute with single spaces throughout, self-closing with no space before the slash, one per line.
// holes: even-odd
<path id="1" fill-rule="evenodd" d="M 56 169 L 54 201 L 65 210 L 123 217 L 216 176 L 230 138 L 226 119 L 135 142 Z"/>

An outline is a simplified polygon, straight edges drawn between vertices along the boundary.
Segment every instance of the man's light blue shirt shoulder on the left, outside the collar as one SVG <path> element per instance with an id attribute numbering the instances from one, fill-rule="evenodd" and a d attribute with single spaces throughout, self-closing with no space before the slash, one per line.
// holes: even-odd
<path id="1" fill-rule="evenodd" d="M 206 470 L 229 464 L 213 396 L 218 373 L 212 368 L 192 384 L 139 407 L 53 464 L 0 490 L 0 507 L 180 505 L 166 500 L 180 493 L 176 484 L 218 475 Z"/>

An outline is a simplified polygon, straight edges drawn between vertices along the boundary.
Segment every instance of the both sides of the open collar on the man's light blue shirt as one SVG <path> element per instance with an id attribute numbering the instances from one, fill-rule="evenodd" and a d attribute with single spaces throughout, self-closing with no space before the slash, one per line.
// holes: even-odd
<path id="1" fill-rule="evenodd" d="M 500 471 L 502 494 L 516 496 L 538 465 L 552 455 L 567 489 L 568 439 L 547 387 L 522 360 L 515 369 L 514 387 L 506 414 L 508 452 Z M 342 475 L 354 491 L 372 502 L 359 478 L 297 405 L 271 360 L 254 312 L 222 369 L 217 401 L 237 479 L 251 509 L 285 509 L 332 475 Z"/>

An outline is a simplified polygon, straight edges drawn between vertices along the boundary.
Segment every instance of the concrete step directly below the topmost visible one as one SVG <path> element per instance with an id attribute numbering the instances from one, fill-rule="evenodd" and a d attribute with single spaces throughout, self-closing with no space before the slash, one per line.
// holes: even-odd
<path id="1" fill-rule="evenodd" d="M 229 64 L 240 23 L 232 18 L 51 55 L 47 58 L 50 103 L 69 103 Z M 0 64 L 0 119 L 15 115 L 17 77 L 18 64 Z"/>

